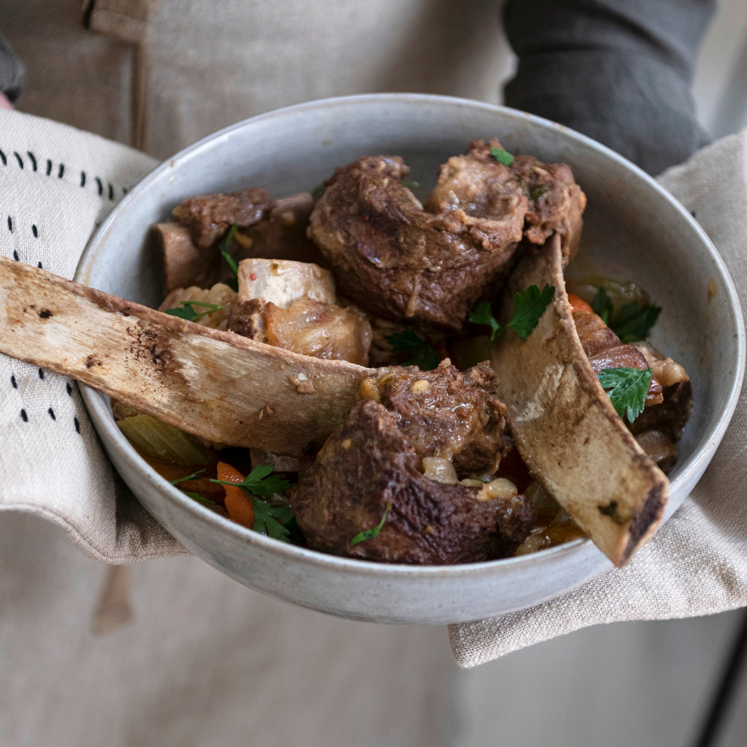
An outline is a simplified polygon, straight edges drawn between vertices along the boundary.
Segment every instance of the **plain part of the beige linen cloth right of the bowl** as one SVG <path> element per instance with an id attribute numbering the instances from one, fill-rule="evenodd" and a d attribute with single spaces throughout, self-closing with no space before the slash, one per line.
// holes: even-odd
<path id="1" fill-rule="evenodd" d="M 660 182 L 690 211 L 724 259 L 747 307 L 747 131 L 696 153 Z M 710 615 L 747 605 L 747 390 L 691 497 L 622 570 L 498 618 L 450 626 L 460 666 L 496 659 L 581 627 Z"/>

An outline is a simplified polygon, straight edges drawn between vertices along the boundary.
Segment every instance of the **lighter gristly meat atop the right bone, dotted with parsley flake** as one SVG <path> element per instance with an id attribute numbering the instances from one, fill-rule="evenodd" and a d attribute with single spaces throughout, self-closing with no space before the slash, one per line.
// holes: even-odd
<path id="1" fill-rule="evenodd" d="M 530 155 L 517 155 L 510 167 L 499 163 L 491 149 L 497 139 L 474 140 L 466 155 L 449 158 L 427 210 L 438 214 L 464 211 L 469 216 L 503 217 L 517 196 L 524 200 L 524 238 L 544 244 L 553 233 L 562 237 L 563 254 L 578 251 L 586 195 L 565 164 L 544 164 Z"/>

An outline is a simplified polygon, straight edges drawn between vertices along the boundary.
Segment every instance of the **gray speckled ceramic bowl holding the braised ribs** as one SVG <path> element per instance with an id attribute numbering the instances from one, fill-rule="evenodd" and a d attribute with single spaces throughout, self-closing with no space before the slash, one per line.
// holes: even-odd
<path id="1" fill-rule="evenodd" d="M 695 408 L 672 473 L 666 516 L 703 474 L 734 412 L 744 329 L 716 249 L 682 206 L 641 170 L 573 131 L 507 108 L 439 96 L 389 94 L 311 102 L 233 125 L 146 176 L 90 242 L 76 279 L 158 306 L 151 223 L 196 193 L 262 185 L 275 196 L 311 190 L 360 155 L 403 155 L 421 192 L 436 169 L 477 137 L 511 152 L 565 161 L 589 197 L 584 246 L 571 276 L 640 282 L 663 306 L 654 344 L 682 362 Z M 422 195 L 421 195 L 422 196 Z M 715 279 L 717 292 L 708 296 Z M 588 539 L 506 560 L 413 568 L 284 545 L 205 509 L 155 473 L 120 434 L 108 402 L 83 387 L 112 462 L 149 512 L 194 554 L 261 592 L 352 619 L 441 624 L 507 613 L 574 589 L 610 568 Z"/>

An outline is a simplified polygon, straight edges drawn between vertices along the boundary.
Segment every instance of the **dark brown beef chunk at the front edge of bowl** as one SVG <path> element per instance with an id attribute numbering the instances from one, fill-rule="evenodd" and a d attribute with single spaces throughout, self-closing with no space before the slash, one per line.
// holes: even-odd
<path id="1" fill-rule="evenodd" d="M 524 496 L 480 500 L 480 488 L 424 477 L 396 416 L 362 400 L 291 492 L 309 547 L 382 562 L 479 562 L 512 554 L 528 536 L 533 509 Z M 375 539 L 350 547 L 375 527 Z"/>

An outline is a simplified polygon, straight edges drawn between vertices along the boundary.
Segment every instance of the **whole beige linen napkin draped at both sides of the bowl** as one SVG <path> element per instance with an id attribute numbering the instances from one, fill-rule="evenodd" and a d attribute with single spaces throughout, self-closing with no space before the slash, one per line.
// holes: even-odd
<path id="1" fill-rule="evenodd" d="M 155 161 L 28 114 L 0 111 L 0 253 L 70 278 L 90 234 Z M 719 248 L 745 303 L 747 132 L 703 149 L 661 182 Z M 683 506 L 636 555 L 562 598 L 450 626 L 460 666 L 601 622 L 716 613 L 747 604 L 746 396 Z M 0 510 L 61 525 L 99 560 L 184 554 L 106 459 L 75 382 L 0 355 Z"/>

